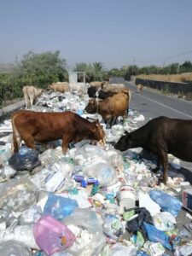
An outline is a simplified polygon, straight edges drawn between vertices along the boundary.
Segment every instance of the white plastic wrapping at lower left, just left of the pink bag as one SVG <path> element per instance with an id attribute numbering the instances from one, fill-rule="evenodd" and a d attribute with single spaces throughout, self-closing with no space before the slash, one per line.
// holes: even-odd
<path id="1" fill-rule="evenodd" d="M 33 225 L 11 226 L 0 232 L 0 241 L 15 240 L 22 242 L 27 248 L 39 249 L 33 237 Z M 0 254 L 3 256 L 3 254 Z M 22 254 L 20 254 L 21 256 Z M 18 255 L 19 256 L 19 255 Z"/>

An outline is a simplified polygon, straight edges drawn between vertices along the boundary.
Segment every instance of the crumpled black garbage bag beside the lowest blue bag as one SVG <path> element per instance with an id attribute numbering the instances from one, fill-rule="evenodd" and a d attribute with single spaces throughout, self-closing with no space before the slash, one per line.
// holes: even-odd
<path id="1" fill-rule="evenodd" d="M 134 234 L 137 234 L 137 231 L 143 231 L 143 233 L 145 234 L 143 222 L 153 224 L 150 212 L 148 212 L 145 207 L 135 207 L 131 209 L 125 208 L 125 212 L 130 212 L 131 210 L 134 210 L 135 214 L 138 214 L 138 216 L 137 218 L 133 218 L 130 221 L 127 221 L 126 229 Z"/>

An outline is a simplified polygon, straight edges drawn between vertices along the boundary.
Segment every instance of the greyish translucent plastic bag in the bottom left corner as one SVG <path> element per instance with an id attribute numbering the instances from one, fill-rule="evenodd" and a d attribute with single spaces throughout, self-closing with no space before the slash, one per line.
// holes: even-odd
<path id="1" fill-rule="evenodd" d="M 11 240 L 0 244 L 0 255 L 32 256 L 32 252 L 23 243 Z"/>

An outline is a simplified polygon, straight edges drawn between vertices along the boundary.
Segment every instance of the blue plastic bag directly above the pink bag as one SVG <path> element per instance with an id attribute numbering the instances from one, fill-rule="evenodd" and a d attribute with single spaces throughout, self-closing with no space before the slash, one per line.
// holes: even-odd
<path id="1" fill-rule="evenodd" d="M 44 214 L 50 214 L 61 220 L 72 214 L 77 207 L 79 205 L 76 200 L 50 193 L 44 206 Z"/>

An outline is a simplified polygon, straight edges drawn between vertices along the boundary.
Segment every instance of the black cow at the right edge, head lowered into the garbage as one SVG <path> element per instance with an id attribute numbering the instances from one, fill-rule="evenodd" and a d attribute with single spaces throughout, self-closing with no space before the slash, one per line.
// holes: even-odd
<path id="1" fill-rule="evenodd" d="M 173 154 L 177 158 L 192 162 L 192 120 L 159 117 L 148 121 L 146 125 L 125 132 L 114 148 L 125 151 L 128 148 L 141 147 L 158 156 L 157 166 L 163 166 L 163 181 L 167 180 L 168 158 Z"/>

